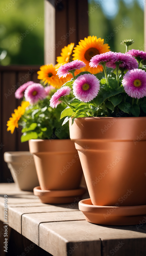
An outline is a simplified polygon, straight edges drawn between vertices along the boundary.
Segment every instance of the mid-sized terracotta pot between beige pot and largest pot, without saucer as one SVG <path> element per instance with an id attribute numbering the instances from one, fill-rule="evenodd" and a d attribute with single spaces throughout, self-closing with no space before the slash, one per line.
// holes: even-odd
<path id="1" fill-rule="evenodd" d="M 83 171 L 73 141 L 29 140 L 29 149 L 42 190 L 79 188 Z"/>

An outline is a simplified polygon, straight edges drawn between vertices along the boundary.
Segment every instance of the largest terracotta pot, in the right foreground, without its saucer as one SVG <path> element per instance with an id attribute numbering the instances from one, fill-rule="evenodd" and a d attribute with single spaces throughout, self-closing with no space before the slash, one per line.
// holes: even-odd
<path id="1" fill-rule="evenodd" d="M 146 205 L 146 117 L 77 118 L 70 138 L 93 205 Z"/>

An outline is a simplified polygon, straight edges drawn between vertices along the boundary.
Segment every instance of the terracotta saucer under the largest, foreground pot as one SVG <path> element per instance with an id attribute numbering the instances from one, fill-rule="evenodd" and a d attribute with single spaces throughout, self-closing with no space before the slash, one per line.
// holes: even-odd
<path id="1" fill-rule="evenodd" d="M 90 198 L 81 200 L 78 205 L 85 219 L 94 224 L 125 226 L 146 223 L 146 205 L 99 206 L 93 205 Z"/>

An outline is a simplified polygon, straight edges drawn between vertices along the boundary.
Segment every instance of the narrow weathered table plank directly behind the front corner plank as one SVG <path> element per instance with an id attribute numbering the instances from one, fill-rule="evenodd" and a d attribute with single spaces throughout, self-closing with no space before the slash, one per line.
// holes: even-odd
<path id="1" fill-rule="evenodd" d="M 62 208 L 60 207 L 60 210 Z M 42 212 L 22 215 L 22 235 L 39 245 L 39 225 L 42 222 L 58 222 L 84 220 L 80 211 Z M 60 224 L 58 224 L 59 227 Z M 32 236 L 33 234 L 33 236 Z"/>

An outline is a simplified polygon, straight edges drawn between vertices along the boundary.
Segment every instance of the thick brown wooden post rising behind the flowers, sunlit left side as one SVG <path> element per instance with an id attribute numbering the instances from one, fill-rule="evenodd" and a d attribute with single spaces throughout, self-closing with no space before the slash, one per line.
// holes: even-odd
<path id="1" fill-rule="evenodd" d="M 87 0 L 44 0 L 44 63 L 55 64 L 61 49 L 88 36 Z"/>

